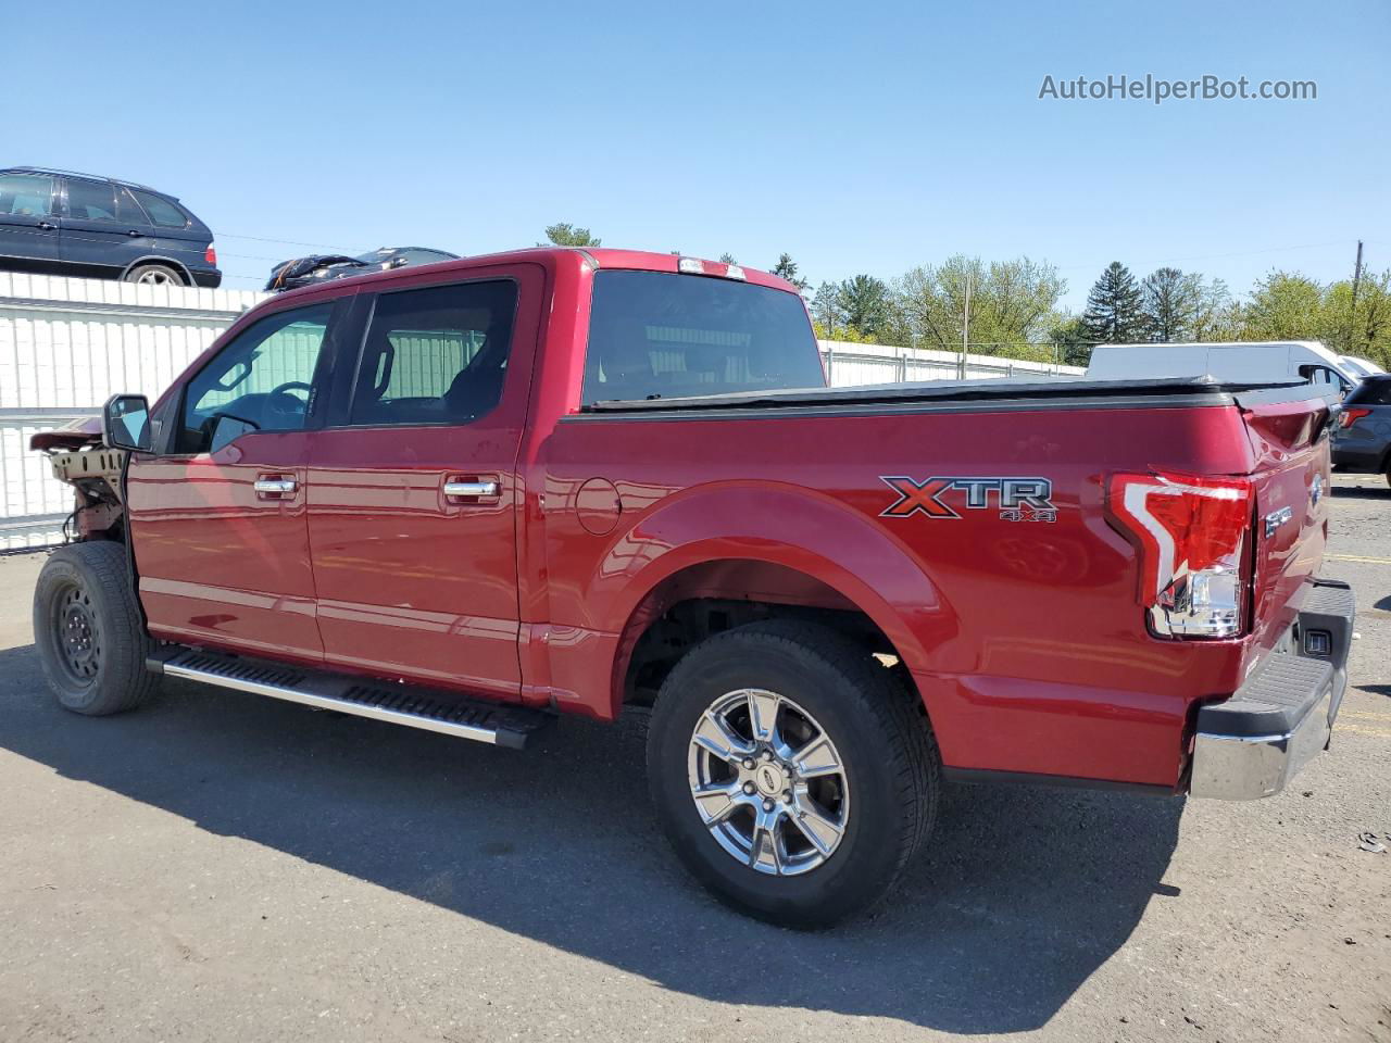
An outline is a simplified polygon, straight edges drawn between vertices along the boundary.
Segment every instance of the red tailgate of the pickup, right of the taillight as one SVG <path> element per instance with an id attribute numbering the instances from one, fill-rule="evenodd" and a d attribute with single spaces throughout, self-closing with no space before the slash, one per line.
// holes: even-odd
<path id="1" fill-rule="evenodd" d="M 1294 624 L 1328 538 L 1328 428 L 1335 402 L 1314 388 L 1299 401 L 1238 396 L 1255 452 L 1256 494 L 1253 624 L 1259 651 L 1276 647 Z"/>

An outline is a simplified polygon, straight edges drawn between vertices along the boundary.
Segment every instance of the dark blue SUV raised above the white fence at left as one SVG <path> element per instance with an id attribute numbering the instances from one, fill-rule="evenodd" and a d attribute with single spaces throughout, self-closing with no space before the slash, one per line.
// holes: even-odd
<path id="1" fill-rule="evenodd" d="M 0 268 L 218 286 L 213 232 L 174 196 L 43 167 L 0 170 Z"/>

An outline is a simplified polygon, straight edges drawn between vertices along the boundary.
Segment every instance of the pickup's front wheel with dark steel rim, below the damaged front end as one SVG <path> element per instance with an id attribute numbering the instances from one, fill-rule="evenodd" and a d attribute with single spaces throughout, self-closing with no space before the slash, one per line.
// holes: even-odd
<path id="1" fill-rule="evenodd" d="M 120 713 L 154 690 L 124 545 L 92 541 L 53 552 L 33 588 L 33 642 L 58 705 L 74 713 Z"/>

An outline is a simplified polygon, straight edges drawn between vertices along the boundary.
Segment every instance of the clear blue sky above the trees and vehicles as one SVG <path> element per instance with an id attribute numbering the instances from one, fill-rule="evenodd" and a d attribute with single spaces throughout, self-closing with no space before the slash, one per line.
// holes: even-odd
<path id="1" fill-rule="evenodd" d="M 83 11 L 82 8 L 88 8 Z M 605 245 L 885 278 L 957 252 L 1391 267 L 1391 6 L 135 4 L 4 15 L 0 165 L 143 181 L 225 285 L 320 243 Z M 1313 79 L 1313 102 L 1039 100 L 1043 76 Z M 22 85 L 15 88 L 15 85 Z M 260 242 L 275 239 L 280 242 Z"/>

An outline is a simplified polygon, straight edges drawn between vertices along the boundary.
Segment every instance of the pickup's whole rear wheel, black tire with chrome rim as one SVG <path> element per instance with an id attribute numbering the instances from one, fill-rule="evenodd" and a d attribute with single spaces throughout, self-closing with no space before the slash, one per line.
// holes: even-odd
<path id="1" fill-rule="evenodd" d="M 701 642 L 647 745 L 677 857 L 722 901 L 823 928 L 883 897 L 936 814 L 940 759 L 890 670 L 833 630 L 775 620 Z"/>

